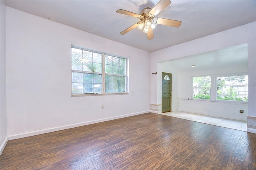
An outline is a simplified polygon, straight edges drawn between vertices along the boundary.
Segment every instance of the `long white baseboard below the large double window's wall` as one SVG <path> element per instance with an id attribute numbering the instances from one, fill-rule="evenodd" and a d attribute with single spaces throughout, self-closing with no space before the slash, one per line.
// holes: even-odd
<path id="1" fill-rule="evenodd" d="M 150 111 L 130 113 L 130 114 L 116 116 L 116 117 L 110 117 L 110 118 L 105 118 L 105 119 L 98 119 L 98 120 L 95 120 L 95 121 L 87 121 L 87 122 L 76 123 L 76 124 L 72 124 L 72 125 L 65 125 L 65 126 L 60 126 L 60 127 L 46 128 L 46 129 L 41 129 L 41 130 L 34 130 L 34 131 L 31 131 L 31 132 L 24 132 L 24 133 L 20 133 L 20 134 L 13 134 L 13 135 L 8 136 L 8 140 L 14 140 L 14 139 L 18 139 L 18 138 L 25 138 L 25 137 L 29 137 L 29 136 L 38 135 L 38 134 L 55 132 L 55 131 L 58 131 L 58 130 L 65 130 L 65 129 L 68 129 L 68 128 L 75 128 L 75 127 L 80 127 L 80 126 L 84 126 L 84 125 L 90 125 L 90 124 L 94 124 L 94 123 L 111 121 L 111 120 L 114 120 L 114 119 L 120 119 L 120 118 L 124 118 L 124 117 L 130 117 L 130 116 L 140 115 L 140 114 L 149 113 L 149 112 Z"/>

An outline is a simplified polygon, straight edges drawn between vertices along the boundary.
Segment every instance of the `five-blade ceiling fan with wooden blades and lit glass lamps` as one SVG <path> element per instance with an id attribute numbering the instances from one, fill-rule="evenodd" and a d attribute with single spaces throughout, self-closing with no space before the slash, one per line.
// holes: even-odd
<path id="1" fill-rule="evenodd" d="M 136 14 L 126 10 L 117 10 L 116 11 L 117 13 L 133 16 L 140 19 L 139 22 L 130 26 L 126 30 L 120 32 L 120 34 L 124 35 L 136 27 L 139 30 L 142 30 L 142 28 L 144 27 L 143 32 L 147 34 L 148 40 L 151 40 L 154 38 L 153 30 L 157 24 L 162 24 L 162 25 L 172 26 L 172 27 L 179 27 L 181 25 L 181 21 L 155 17 L 159 12 L 164 10 L 164 8 L 166 8 L 171 3 L 172 2 L 170 0 L 160 0 L 152 9 L 149 7 L 144 8 L 140 12 L 140 14 Z"/>

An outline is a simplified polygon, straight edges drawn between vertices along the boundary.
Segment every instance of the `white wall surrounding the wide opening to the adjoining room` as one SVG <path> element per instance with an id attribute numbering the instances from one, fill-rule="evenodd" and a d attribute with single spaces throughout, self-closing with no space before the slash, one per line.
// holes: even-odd
<path id="1" fill-rule="evenodd" d="M 256 117 L 256 22 L 152 52 L 151 71 L 162 70 L 163 61 L 248 44 L 248 116 Z M 160 74 L 150 79 L 150 103 L 161 104 Z M 256 122 L 256 121 L 255 121 Z M 255 123 L 252 127 L 256 127 Z M 256 131 L 254 131 L 256 132 Z"/>

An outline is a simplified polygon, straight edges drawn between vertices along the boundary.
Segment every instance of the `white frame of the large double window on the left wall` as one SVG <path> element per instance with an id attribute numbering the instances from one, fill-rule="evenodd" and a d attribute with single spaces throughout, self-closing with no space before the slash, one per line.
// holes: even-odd
<path id="1" fill-rule="evenodd" d="M 128 66 L 129 66 L 129 58 L 126 58 L 126 57 L 121 57 L 121 56 L 118 56 L 118 55 L 113 55 L 113 54 L 110 54 L 110 53 L 104 53 L 102 51 L 96 51 L 96 50 L 92 50 L 92 49 L 87 49 L 87 48 L 84 48 L 84 47 L 78 47 L 76 45 L 71 45 L 71 50 L 70 52 L 72 53 L 72 48 L 75 48 L 75 49 L 81 49 L 81 50 L 84 50 L 84 51 L 89 51 L 89 52 L 92 52 L 92 53 L 100 53 L 102 54 L 102 63 L 101 63 L 101 67 L 102 67 L 102 72 L 92 72 L 92 71 L 80 71 L 80 70 L 73 70 L 72 69 L 72 54 L 70 55 L 71 56 L 71 96 L 74 97 L 74 96 L 97 96 L 97 95 L 126 95 L 126 94 L 129 94 L 129 69 L 128 69 Z M 118 58 L 122 58 L 122 59 L 125 59 L 126 63 L 125 63 L 125 74 L 124 75 L 120 75 L 120 74 L 109 74 L 109 73 L 105 73 L 105 55 L 109 55 L 109 56 L 112 56 L 112 57 L 118 57 Z M 102 93 L 72 93 L 72 83 L 73 83 L 73 80 L 72 80 L 72 74 L 73 72 L 79 72 L 79 73 L 89 73 L 89 74 L 99 74 L 99 75 L 102 75 Z M 126 92 L 114 92 L 114 93 L 106 93 L 106 82 L 105 82 L 105 76 L 106 75 L 115 75 L 115 76 L 123 76 L 125 77 L 125 81 L 126 81 Z M 84 84 L 84 80 L 83 80 L 83 84 Z M 83 88 L 83 92 L 84 92 L 84 88 Z"/>

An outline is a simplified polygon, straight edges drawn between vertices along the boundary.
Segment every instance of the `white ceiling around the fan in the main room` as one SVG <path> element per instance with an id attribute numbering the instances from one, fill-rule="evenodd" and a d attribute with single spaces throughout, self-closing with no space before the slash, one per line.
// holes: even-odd
<path id="1" fill-rule="evenodd" d="M 6 0 L 6 6 L 53 20 L 85 32 L 145 51 L 156 51 L 256 21 L 255 0 L 173 0 L 157 17 L 182 21 L 179 28 L 158 25 L 154 39 L 134 29 L 119 33 L 139 21 L 116 13 L 124 9 L 139 14 L 158 0 Z"/>

